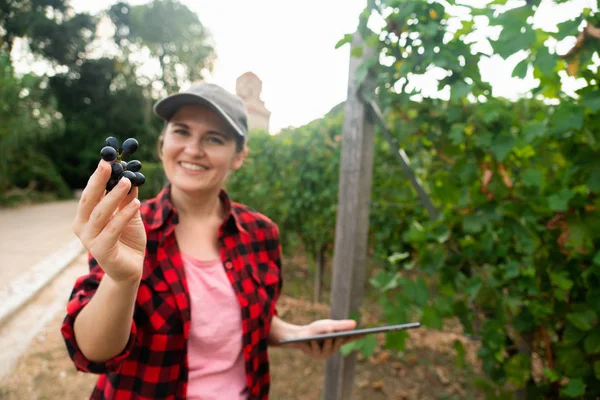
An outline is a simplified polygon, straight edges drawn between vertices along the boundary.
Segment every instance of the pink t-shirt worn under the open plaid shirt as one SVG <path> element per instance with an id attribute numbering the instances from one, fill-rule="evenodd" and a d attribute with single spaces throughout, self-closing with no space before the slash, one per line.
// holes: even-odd
<path id="1" fill-rule="evenodd" d="M 242 315 L 223 263 L 181 257 L 191 300 L 187 399 L 247 399 Z"/>

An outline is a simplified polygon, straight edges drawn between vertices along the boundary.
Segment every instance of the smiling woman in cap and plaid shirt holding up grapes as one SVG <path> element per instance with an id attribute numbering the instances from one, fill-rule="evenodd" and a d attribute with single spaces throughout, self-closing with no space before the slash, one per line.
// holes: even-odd
<path id="1" fill-rule="evenodd" d="M 125 178 L 105 193 L 111 168 L 100 161 L 81 196 L 73 230 L 90 271 L 61 329 L 70 357 L 100 374 L 92 399 L 266 399 L 267 345 L 355 322 L 298 326 L 277 316 L 277 225 L 223 190 L 247 154 L 241 99 L 204 83 L 154 111 L 165 120 L 159 155 L 169 184 L 140 205 Z M 341 344 L 293 347 L 323 359 Z"/>

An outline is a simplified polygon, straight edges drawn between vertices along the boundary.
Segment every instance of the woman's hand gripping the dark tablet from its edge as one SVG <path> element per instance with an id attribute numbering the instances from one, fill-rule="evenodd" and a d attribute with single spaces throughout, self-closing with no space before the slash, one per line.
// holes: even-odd
<path id="1" fill-rule="evenodd" d="M 294 329 L 292 337 L 304 337 L 319 335 L 323 333 L 332 333 L 339 331 L 347 331 L 356 328 L 356 321 L 351 319 L 332 320 L 322 319 L 314 321 L 308 325 L 299 326 Z M 290 337 L 290 336 L 288 336 Z M 348 338 L 327 339 L 324 341 L 313 340 L 311 342 L 290 343 L 285 346 L 300 349 L 304 354 L 316 358 L 326 359 L 338 352 L 343 344 L 360 339 L 362 336 L 354 336 Z"/>

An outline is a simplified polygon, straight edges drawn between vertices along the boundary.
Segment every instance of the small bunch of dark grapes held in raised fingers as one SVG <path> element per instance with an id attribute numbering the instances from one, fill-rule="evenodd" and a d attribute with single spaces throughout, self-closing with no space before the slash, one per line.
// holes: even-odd
<path id="1" fill-rule="evenodd" d="M 140 172 L 142 163 L 138 160 L 126 162 L 123 156 L 135 153 L 139 147 L 137 140 L 129 138 L 119 146 L 119 141 L 110 136 L 106 138 L 104 147 L 100 151 L 100 156 L 104 161 L 108 161 L 112 168 L 110 179 L 106 184 L 106 191 L 110 192 L 117 186 L 121 178 L 127 178 L 133 186 L 142 186 L 146 182 L 146 177 Z"/>

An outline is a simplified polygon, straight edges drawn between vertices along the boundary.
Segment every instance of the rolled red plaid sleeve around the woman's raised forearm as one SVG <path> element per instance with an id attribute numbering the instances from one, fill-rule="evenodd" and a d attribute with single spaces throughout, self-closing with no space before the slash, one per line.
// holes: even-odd
<path id="1" fill-rule="evenodd" d="M 131 332 L 129 334 L 127 345 L 120 354 L 105 362 L 99 363 L 88 360 L 77 345 L 77 341 L 75 339 L 75 318 L 77 318 L 77 315 L 92 299 L 94 293 L 96 293 L 96 290 L 100 285 L 102 277 L 104 276 L 104 271 L 98 265 L 96 259 L 91 256 L 91 254 L 88 255 L 88 262 L 89 273 L 77 279 L 69 297 L 69 302 L 67 303 L 67 315 L 65 316 L 61 326 L 61 334 L 65 341 L 69 357 L 71 360 L 73 360 L 75 368 L 78 371 L 96 374 L 116 372 L 119 370 L 122 362 L 131 354 L 131 350 L 135 345 L 137 328 L 133 320 L 131 321 Z"/>

